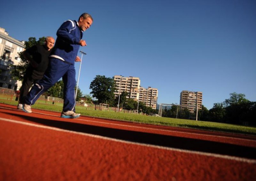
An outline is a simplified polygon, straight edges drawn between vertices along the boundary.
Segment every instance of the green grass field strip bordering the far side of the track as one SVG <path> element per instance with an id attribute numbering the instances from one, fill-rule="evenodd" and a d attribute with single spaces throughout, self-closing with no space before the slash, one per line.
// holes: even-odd
<path id="1" fill-rule="evenodd" d="M 0 103 L 17 105 L 17 101 L 11 101 L 0 99 Z M 55 112 L 62 111 L 61 103 L 47 103 L 45 101 L 38 100 L 35 105 L 32 106 L 32 109 L 42 109 L 50 110 Z M 84 116 L 97 117 L 97 118 L 106 118 L 114 120 L 123 120 L 131 121 L 137 123 L 145 124 L 154 124 L 154 125 L 163 125 L 163 126 L 172 126 L 172 127 L 184 127 L 184 128 L 193 128 L 207 131 L 219 131 L 219 132 L 228 132 L 228 133 L 238 133 L 238 134 L 250 134 L 256 135 L 256 127 L 225 124 L 225 123 L 216 123 L 208 121 L 195 121 L 187 119 L 174 119 L 174 118 L 164 118 L 164 117 L 153 117 L 121 112 L 108 112 L 108 111 L 99 111 L 94 110 L 94 108 L 86 108 L 84 106 L 76 106 L 76 112 L 81 113 Z"/>

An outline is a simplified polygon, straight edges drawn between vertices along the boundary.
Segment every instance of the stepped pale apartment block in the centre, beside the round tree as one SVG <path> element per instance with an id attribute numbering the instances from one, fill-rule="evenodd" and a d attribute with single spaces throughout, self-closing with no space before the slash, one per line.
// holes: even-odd
<path id="1" fill-rule="evenodd" d="M 145 89 L 141 87 L 139 77 L 114 76 L 114 81 L 116 83 L 116 91 L 114 92 L 116 97 L 123 91 L 126 91 L 128 92 L 128 96 L 126 98 L 132 98 L 136 101 L 139 100 L 147 106 L 156 109 L 158 95 L 157 89 L 151 87 Z"/>

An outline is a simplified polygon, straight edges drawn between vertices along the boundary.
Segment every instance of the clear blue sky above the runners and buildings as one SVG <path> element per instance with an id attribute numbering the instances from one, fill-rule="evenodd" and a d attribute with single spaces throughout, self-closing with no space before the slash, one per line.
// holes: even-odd
<path id="1" fill-rule="evenodd" d="M 65 20 L 88 12 L 84 94 L 96 75 L 134 76 L 158 89 L 158 104 L 179 103 L 182 90 L 202 91 L 211 109 L 232 92 L 256 101 L 255 10 L 255 0 L 5 1 L 0 27 L 18 40 L 56 38 Z M 79 63 L 76 70 L 78 77 Z"/>

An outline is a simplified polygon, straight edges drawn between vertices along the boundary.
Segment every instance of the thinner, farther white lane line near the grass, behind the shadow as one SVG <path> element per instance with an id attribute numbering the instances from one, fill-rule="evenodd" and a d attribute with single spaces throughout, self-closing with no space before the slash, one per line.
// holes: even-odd
<path id="1" fill-rule="evenodd" d="M 3 107 L 3 108 L 5 108 L 5 107 Z M 5 109 L 13 110 L 13 108 L 5 108 Z M 14 109 L 14 110 L 16 110 L 16 109 Z M 41 112 L 33 112 L 33 113 L 47 115 L 47 116 L 60 117 L 60 116 L 56 116 L 56 115 L 52 115 L 52 114 L 45 114 L 45 113 L 41 113 Z M 76 118 L 76 119 L 78 119 L 78 118 Z M 101 119 L 101 118 L 99 118 L 99 119 Z M 102 119 L 104 119 L 104 118 L 102 118 Z M 171 131 L 171 130 L 165 130 L 165 129 L 148 128 L 148 127 L 143 127 L 143 126 L 141 126 L 141 127 L 129 126 L 129 125 L 122 125 L 122 124 L 115 124 L 115 123 L 106 123 L 106 122 L 102 122 L 102 121 L 92 121 L 92 120 L 86 120 L 86 119 L 78 119 L 78 120 L 87 121 L 87 122 L 93 122 L 93 123 L 101 123 L 101 124 L 105 124 L 105 125 L 114 125 L 114 126 L 121 126 L 121 127 L 140 128 L 140 129 L 145 129 L 145 130 L 148 129 L 148 130 L 163 131 L 163 132 L 170 132 L 170 133 L 184 133 L 184 134 L 187 134 L 187 135 L 190 134 L 190 135 L 198 135 L 198 136 L 226 138 L 226 139 L 231 139 L 231 140 L 251 141 L 251 142 L 255 142 L 255 144 L 256 144 L 256 140 L 250 140 L 250 139 L 245 139 L 245 138 L 236 138 L 236 137 L 234 138 L 234 137 L 228 137 L 228 136 L 216 136 L 216 135 L 209 135 L 209 134 L 188 133 L 188 132 Z"/>

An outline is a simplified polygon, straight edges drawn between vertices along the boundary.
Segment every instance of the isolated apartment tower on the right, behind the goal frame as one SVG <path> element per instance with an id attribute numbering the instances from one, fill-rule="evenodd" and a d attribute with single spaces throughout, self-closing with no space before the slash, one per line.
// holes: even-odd
<path id="1" fill-rule="evenodd" d="M 180 92 L 180 105 L 181 108 L 188 108 L 190 112 L 194 112 L 196 107 L 202 109 L 202 92 L 193 92 L 193 91 L 181 91 Z"/>

